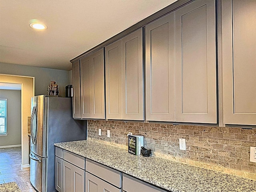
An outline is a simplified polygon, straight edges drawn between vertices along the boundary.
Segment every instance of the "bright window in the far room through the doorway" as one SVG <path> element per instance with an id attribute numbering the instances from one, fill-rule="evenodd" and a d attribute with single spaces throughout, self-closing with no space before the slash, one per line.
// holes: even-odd
<path id="1" fill-rule="evenodd" d="M 0 98 L 0 134 L 7 134 L 7 99 Z"/>

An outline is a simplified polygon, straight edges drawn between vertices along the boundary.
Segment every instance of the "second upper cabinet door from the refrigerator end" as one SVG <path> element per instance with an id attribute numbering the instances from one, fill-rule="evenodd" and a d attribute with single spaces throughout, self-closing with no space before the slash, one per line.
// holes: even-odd
<path id="1" fill-rule="evenodd" d="M 82 95 L 82 118 L 90 118 L 90 90 L 91 90 L 91 78 L 90 78 L 90 64 L 91 57 L 87 56 L 80 61 L 81 66 L 81 95 Z"/>

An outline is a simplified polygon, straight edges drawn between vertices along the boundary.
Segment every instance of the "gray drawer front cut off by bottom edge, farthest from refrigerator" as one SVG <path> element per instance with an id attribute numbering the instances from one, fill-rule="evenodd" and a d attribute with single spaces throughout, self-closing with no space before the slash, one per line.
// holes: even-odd
<path id="1" fill-rule="evenodd" d="M 140 181 L 138 179 L 132 178 L 126 174 L 123 175 L 123 190 L 126 192 L 165 192 L 155 186 L 152 186 L 146 182 Z"/>

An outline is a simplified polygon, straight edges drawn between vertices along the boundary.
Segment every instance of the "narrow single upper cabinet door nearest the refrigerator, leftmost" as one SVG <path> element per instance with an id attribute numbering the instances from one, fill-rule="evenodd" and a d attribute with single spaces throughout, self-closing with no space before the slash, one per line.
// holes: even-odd
<path id="1" fill-rule="evenodd" d="M 80 93 L 80 64 L 72 64 L 73 77 L 73 118 L 81 118 L 81 93 Z"/>

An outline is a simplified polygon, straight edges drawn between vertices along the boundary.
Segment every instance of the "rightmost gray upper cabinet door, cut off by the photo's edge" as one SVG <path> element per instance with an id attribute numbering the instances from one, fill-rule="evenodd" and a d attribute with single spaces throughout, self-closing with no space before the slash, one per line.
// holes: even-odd
<path id="1" fill-rule="evenodd" d="M 256 125 L 256 1 L 222 1 L 224 124 Z"/>

